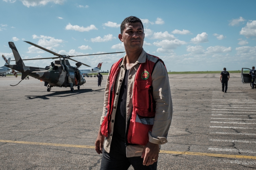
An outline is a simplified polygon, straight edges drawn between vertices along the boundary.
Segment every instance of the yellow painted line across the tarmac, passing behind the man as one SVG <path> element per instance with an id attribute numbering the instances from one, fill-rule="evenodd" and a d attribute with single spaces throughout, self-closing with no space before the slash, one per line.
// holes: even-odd
<path id="1" fill-rule="evenodd" d="M 56 144 L 56 143 L 41 143 L 41 142 L 25 142 L 25 141 L 12 141 L 12 140 L 0 140 L 4 143 L 15 143 L 15 144 L 36 144 L 36 145 L 46 145 L 46 146 L 63 146 L 63 147 L 75 147 L 75 148 L 90 148 L 94 149 L 95 146 L 89 145 L 76 145 L 76 144 Z M 219 158 L 238 158 L 238 159 L 256 159 L 256 156 L 245 156 L 245 155 L 225 155 L 225 154 L 215 154 L 215 153 L 201 153 L 201 152 L 177 152 L 177 151 L 163 151 L 163 154 L 182 154 L 182 155 L 197 155 L 197 156 L 210 156 Z"/>

